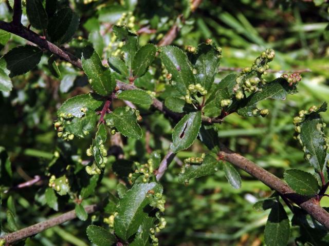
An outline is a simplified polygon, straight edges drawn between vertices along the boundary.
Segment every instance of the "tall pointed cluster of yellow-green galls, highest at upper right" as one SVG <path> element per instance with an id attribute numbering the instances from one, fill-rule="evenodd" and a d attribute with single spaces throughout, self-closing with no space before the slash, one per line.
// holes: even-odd
<path id="1" fill-rule="evenodd" d="M 236 85 L 233 88 L 235 98 L 241 100 L 244 98 L 245 92 L 261 91 L 260 85 L 264 85 L 266 81 L 262 78 L 269 69 L 269 63 L 275 57 L 275 52 L 272 49 L 267 49 L 257 57 L 251 67 L 242 70 L 239 76 L 236 77 Z"/>

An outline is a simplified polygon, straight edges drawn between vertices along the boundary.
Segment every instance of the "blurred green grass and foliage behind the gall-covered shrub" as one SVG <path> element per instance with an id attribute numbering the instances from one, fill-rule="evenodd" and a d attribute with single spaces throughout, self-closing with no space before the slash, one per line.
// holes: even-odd
<path id="1" fill-rule="evenodd" d="M 225 124 L 217 124 L 216 128 L 222 142 L 229 148 L 257 161 L 258 165 L 279 177 L 283 177 L 287 169 L 311 170 L 303 158 L 298 142 L 293 139 L 295 130 L 292 119 L 300 109 L 321 105 L 329 97 L 329 37 L 325 31 L 329 20 L 328 4 L 321 1 L 241 0 L 232 5 L 232 1 L 203 1 L 191 13 L 188 1 L 85 0 L 60 1 L 58 4 L 62 3 L 74 9 L 75 13 L 68 13 L 72 24 L 70 28 L 78 28 L 75 38 L 64 48 L 74 50 L 78 56 L 88 42 L 94 44 L 94 49 L 99 54 L 103 54 L 104 60 L 115 54 L 121 44 L 113 40 L 111 24 L 126 24 L 135 31 L 144 26 L 154 30 L 152 33 L 140 34 L 141 46 L 149 42 L 156 44 L 175 22 L 181 27 L 173 43 L 176 46 L 196 47 L 211 38 L 215 45 L 222 47 L 223 56 L 223 71 L 216 75 L 215 81 L 220 81 L 231 72 L 225 71 L 225 68 L 248 67 L 263 50 L 274 49 L 276 59 L 272 61 L 270 68 L 278 70 L 278 73 L 269 73 L 267 78 L 270 80 L 279 77 L 282 74 L 280 70 L 303 69 L 305 72 L 302 73 L 303 79 L 298 86 L 299 93 L 288 96 L 286 101 L 262 101 L 262 107 L 270 109 L 265 118 L 242 118 L 231 114 L 225 118 Z M 11 4 L 10 1 L 0 3 L 1 19 L 11 20 Z M 56 13 L 58 18 L 61 18 L 64 11 L 69 12 L 67 9 L 61 11 Z M 79 16 L 79 25 L 75 22 L 75 14 Z M 184 23 L 177 19 L 179 14 L 186 17 Z M 22 20 L 24 25 L 29 23 L 26 13 L 23 13 Z M 32 28 L 39 28 L 39 24 L 45 25 L 31 23 Z M 49 22 L 48 27 L 51 25 Z M 69 33 L 59 35 L 57 30 L 48 35 L 57 44 L 70 39 L 67 37 Z M 25 40 L 20 37 L 0 32 L 1 55 L 25 44 Z M 53 130 L 57 109 L 63 101 L 90 90 L 87 78 L 68 63 L 60 63 L 59 71 L 50 71 L 49 56 L 50 54 L 45 54 L 38 57 L 36 54 L 35 58 L 41 59 L 38 68 L 14 77 L 12 90 L 8 89 L 8 92 L 0 95 L 0 146 L 8 152 L 12 163 L 12 186 L 35 175 L 53 172 L 51 167 L 58 159 L 65 167 L 88 160 L 85 150 L 92 142 L 90 136 L 89 139 L 75 138 L 66 142 L 58 138 Z M 23 72 L 17 72 L 21 73 Z M 163 75 L 162 80 L 165 79 Z M 155 91 L 160 98 L 166 97 L 165 93 L 161 94 L 165 85 L 159 81 L 145 83 L 142 79 L 137 79 L 135 85 Z M 124 106 L 120 105 L 119 100 L 114 101 L 114 104 Z M 158 113 L 143 115 L 143 110 L 140 111 L 143 117 L 142 131 L 148 138 L 124 138 L 123 151 L 126 159 L 145 163 L 147 156 L 150 156 L 149 149 L 158 151 L 161 156 L 166 154 L 164 150 L 169 147 L 173 126 Z M 322 116 L 328 122 L 328 113 L 322 113 Z M 6 160 L 5 150 L 0 149 L 1 168 Z M 202 145 L 195 142 L 187 151 L 178 152 L 177 157 L 183 160 L 195 156 L 195 153 L 204 152 L 206 150 Z M 113 161 L 114 158 L 109 156 L 108 165 L 111 166 Z M 105 170 L 100 184 L 93 191 L 97 196 L 85 199 L 85 204 L 101 201 L 108 191 L 117 193 L 116 175 L 110 168 Z M 240 170 L 243 180 L 240 189 L 233 189 L 229 185 L 224 172 L 192 179 L 185 186 L 179 182 L 179 172 L 180 167 L 173 163 L 161 180 L 163 194 L 166 196 L 166 212 L 163 217 L 167 220 L 166 228 L 158 235 L 161 245 L 220 243 L 257 246 L 264 242 L 264 226 L 269 210 L 256 211 L 253 204 L 271 194 L 268 187 Z M 1 182 L 5 182 L 1 178 Z M 44 206 L 43 195 L 53 196 L 51 190 L 45 193 L 48 178 L 43 176 L 43 181 L 38 185 L 17 189 L 14 193 L 9 193 L 10 196 L 2 193 L 0 219 L 4 221 L 6 230 L 15 230 L 10 227 L 24 228 L 55 214 L 56 211 L 75 208 L 72 199 L 65 196 L 58 196 L 58 202 L 48 202 L 49 207 Z M 324 197 L 321 204 L 329 207 L 329 198 Z M 8 209 L 13 213 L 15 223 L 6 222 Z M 288 209 L 286 212 L 291 218 L 291 212 Z M 84 215 L 81 216 L 82 220 L 70 221 L 49 229 L 28 239 L 26 244 L 88 245 L 86 227 L 98 215 L 89 216 L 87 221 L 83 221 Z M 298 233 L 297 229 L 291 228 L 289 245 L 294 245 L 293 239 Z"/>

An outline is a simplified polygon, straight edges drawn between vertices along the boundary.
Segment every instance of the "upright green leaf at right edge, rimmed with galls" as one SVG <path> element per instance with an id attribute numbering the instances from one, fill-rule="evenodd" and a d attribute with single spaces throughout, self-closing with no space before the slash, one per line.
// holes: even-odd
<path id="1" fill-rule="evenodd" d="M 300 124 L 299 138 L 305 157 L 318 173 L 323 170 L 326 156 L 326 150 L 323 147 L 325 145 L 325 135 L 321 130 L 323 122 L 319 114 L 319 112 L 325 110 L 326 104 L 323 104 L 318 111 L 306 115 L 305 120 Z"/>

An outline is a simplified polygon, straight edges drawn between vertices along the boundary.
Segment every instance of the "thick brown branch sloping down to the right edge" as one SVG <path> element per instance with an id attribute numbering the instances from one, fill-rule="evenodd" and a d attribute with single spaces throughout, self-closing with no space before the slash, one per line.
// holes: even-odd
<path id="1" fill-rule="evenodd" d="M 219 155 L 224 159 L 232 163 L 234 166 L 246 171 L 251 176 L 265 183 L 266 186 L 273 190 L 276 190 L 282 194 L 285 198 L 295 202 L 299 207 L 304 209 L 307 213 L 312 215 L 323 226 L 329 229 L 329 214 L 321 208 L 319 201 L 316 197 L 307 198 L 305 196 L 297 194 L 292 190 L 285 182 L 283 182 L 277 176 L 267 172 L 265 169 L 259 167 L 252 161 L 237 154 L 224 145 L 221 144 L 221 151 Z"/>

